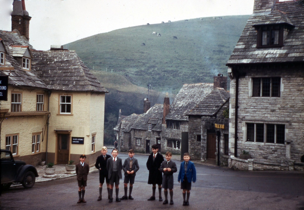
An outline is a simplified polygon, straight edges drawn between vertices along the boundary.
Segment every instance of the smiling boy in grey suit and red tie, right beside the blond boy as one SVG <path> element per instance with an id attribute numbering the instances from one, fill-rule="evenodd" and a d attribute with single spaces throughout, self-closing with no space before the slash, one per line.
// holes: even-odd
<path id="1" fill-rule="evenodd" d="M 112 158 L 109 158 L 107 160 L 107 170 L 108 170 L 108 176 L 110 180 L 110 199 L 109 203 L 112 203 L 113 201 L 113 187 L 115 183 L 115 192 L 116 192 L 116 201 L 120 202 L 120 199 L 118 198 L 118 192 L 119 192 L 119 179 L 123 178 L 123 175 L 121 173 L 121 170 L 123 168 L 123 164 L 121 161 L 121 158 L 117 157 L 118 151 L 117 149 L 112 150 Z"/>

